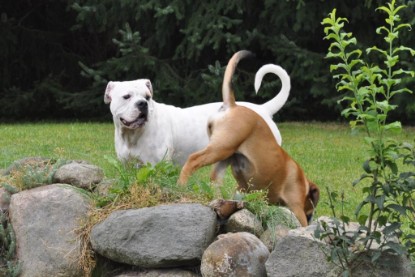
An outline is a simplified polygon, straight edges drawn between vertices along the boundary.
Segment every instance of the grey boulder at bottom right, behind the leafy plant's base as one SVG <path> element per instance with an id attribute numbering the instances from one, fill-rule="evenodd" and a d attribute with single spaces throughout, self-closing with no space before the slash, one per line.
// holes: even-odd
<path id="1" fill-rule="evenodd" d="M 326 217 L 325 220 L 332 224 Z M 357 223 L 350 223 L 346 228 L 346 235 L 357 230 Z M 341 276 L 342 268 L 327 261 L 331 255 L 332 245 L 326 240 L 319 241 L 314 237 L 317 223 L 307 227 L 289 230 L 287 236 L 278 240 L 266 262 L 268 276 Z M 352 251 L 352 249 L 350 249 Z M 378 249 L 370 250 L 378 251 Z M 403 276 L 411 277 L 410 260 L 402 255 L 382 253 L 376 264 L 371 263 L 371 254 L 361 252 L 350 268 L 352 276 Z"/>

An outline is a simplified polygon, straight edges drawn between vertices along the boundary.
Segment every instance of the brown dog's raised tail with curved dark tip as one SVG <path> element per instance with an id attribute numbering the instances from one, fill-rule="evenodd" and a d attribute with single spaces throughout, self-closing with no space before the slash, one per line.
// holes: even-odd
<path id="1" fill-rule="evenodd" d="M 241 50 L 236 52 L 229 60 L 228 65 L 226 66 L 222 84 L 223 108 L 227 109 L 229 107 L 235 106 L 235 94 L 232 88 L 232 76 L 235 73 L 236 65 L 243 58 L 253 55 L 254 54 L 252 54 L 252 52 Z"/>

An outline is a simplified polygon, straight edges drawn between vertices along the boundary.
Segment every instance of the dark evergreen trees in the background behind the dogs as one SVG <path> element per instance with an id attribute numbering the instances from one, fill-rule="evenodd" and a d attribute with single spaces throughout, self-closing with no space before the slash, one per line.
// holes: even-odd
<path id="1" fill-rule="evenodd" d="M 0 119 L 110 120 L 109 80 L 150 78 L 158 102 L 186 107 L 220 101 L 224 66 L 248 49 L 255 63 L 238 73 L 238 100 L 262 103 L 279 90 L 267 76 L 258 95 L 253 76 L 265 63 L 292 81 L 278 121 L 336 121 L 341 107 L 325 60 L 322 19 L 337 8 L 359 47 L 379 45 L 380 0 L 5 0 L 0 3 Z M 415 0 L 405 20 L 415 26 Z M 399 35 L 415 47 L 411 32 Z M 376 58 L 376 57 L 375 57 Z M 413 58 L 403 57 L 415 69 Z M 414 90 L 415 80 L 404 86 Z M 415 125 L 415 97 L 402 95 L 395 119 Z M 392 118 L 393 119 L 393 118 Z"/>

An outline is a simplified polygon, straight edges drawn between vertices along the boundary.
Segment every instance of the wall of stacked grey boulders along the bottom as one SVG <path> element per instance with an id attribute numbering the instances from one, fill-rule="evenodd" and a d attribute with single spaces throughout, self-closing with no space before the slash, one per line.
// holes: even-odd
<path id="1" fill-rule="evenodd" d="M 28 162 L 48 164 L 25 159 L 2 174 Z M 0 189 L 0 207 L 9 213 L 16 236 L 20 276 L 85 275 L 76 230 L 95 207 L 84 190 L 104 184 L 101 169 L 78 161 L 59 166 L 51 184 L 12 195 Z M 224 200 L 118 210 L 92 228 L 97 262 L 86 276 L 338 276 L 339 268 L 325 255 L 330 246 L 313 238 L 315 227 L 264 230 L 243 203 Z M 405 257 L 382 255 L 379 264 L 363 262 L 353 275 L 412 276 Z"/>

